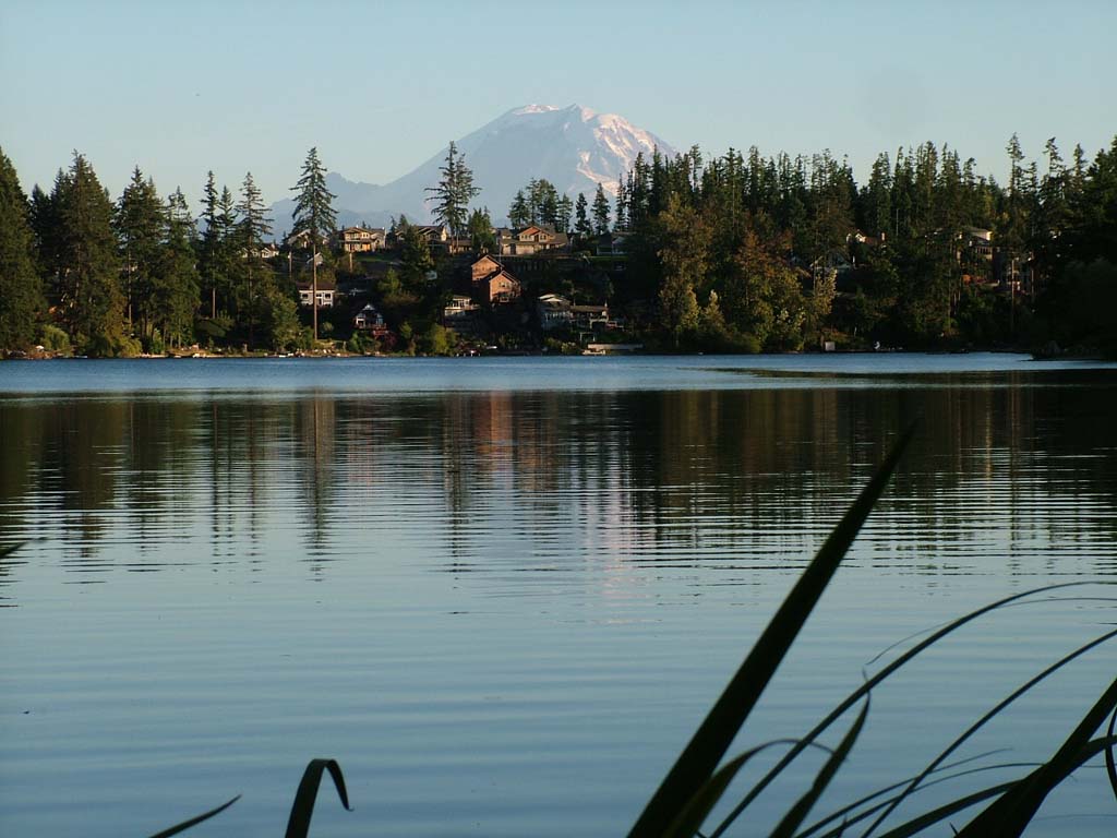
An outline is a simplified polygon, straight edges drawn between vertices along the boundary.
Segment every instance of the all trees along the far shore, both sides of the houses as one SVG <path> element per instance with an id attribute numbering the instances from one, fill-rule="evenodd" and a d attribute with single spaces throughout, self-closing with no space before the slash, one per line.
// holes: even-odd
<path id="1" fill-rule="evenodd" d="M 1066 161 L 1054 139 L 1042 165 L 1013 136 L 1004 184 L 947 145 L 881 153 L 858 185 L 829 151 L 763 156 L 731 149 L 706 159 L 638 155 L 610 201 L 571 200 L 533 179 L 508 208 L 513 227 L 567 232 L 575 249 L 623 240 L 613 302 L 653 345 L 781 351 L 837 340 L 852 346 L 1081 346 L 1117 341 L 1117 137 Z M 298 269 L 316 286 L 336 216 L 325 170 L 311 150 L 296 192 Z M 488 211 L 450 144 L 427 190 L 451 235 L 491 249 Z M 90 355 L 212 341 L 288 349 L 318 337 L 298 315 L 287 275 L 266 260 L 271 232 L 258 187 L 238 192 L 209 173 L 194 219 L 180 190 L 161 197 L 137 168 L 113 201 L 76 153 L 49 192 L 26 196 L 0 150 L 0 350 L 41 343 Z M 448 292 L 421 237 L 401 223 L 403 267 L 381 297 Z M 989 231 L 992 245 L 975 248 Z M 981 235 L 981 234 L 978 234 Z M 981 244 L 981 242 L 977 242 Z M 308 257 L 308 258 L 306 258 Z M 427 287 L 431 286 L 431 287 Z M 437 287 L 435 287 L 437 286 Z M 410 295 L 410 296 L 409 296 Z M 429 298 L 429 299 L 428 299 Z"/>

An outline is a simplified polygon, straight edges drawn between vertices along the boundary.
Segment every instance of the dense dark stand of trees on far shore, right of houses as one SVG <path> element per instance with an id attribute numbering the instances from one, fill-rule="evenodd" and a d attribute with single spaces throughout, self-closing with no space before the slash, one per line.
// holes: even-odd
<path id="1" fill-rule="evenodd" d="M 1006 184 L 927 142 L 858 187 L 830 152 L 637 158 L 618 183 L 636 297 L 677 345 L 1042 345 L 1117 341 L 1117 139 L 1042 168 L 1008 144 Z M 987 231 L 983 234 L 982 231 Z M 975 249 L 975 236 L 992 246 Z M 841 267 L 842 287 L 836 288 Z"/>

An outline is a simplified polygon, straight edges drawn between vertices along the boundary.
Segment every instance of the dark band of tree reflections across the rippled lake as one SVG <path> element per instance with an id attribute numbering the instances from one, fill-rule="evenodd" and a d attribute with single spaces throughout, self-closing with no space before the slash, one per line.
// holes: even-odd
<path id="1" fill-rule="evenodd" d="M 1010 540 L 1113 540 L 1117 390 L 1043 380 L 1066 385 L 15 401 L 0 406 L 0 537 L 59 539 L 83 551 L 75 568 L 155 563 L 204 522 L 200 555 L 262 566 L 278 523 L 319 572 L 398 507 L 433 518 L 451 570 L 507 537 L 540 561 L 746 554 L 761 541 L 801 553 L 919 417 L 881 508 L 918 521 L 898 551 L 983 521 Z M 130 546 L 106 559 L 109 534 Z"/>

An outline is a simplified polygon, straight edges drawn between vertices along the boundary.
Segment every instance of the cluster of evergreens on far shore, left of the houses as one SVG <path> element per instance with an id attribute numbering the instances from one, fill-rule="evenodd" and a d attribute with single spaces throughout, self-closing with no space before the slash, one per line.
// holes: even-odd
<path id="1" fill-rule="evenodd" d="M 316 279 L 317 245 L 335 225 L 316 150 L 293 189 Z M 0 150 L 0 350 L 112 358 L 198 340 L 305 343 L 293 283 L 265 258 L 270 235 L 251 172 L 236 196 L 210 172 L 195 219 L 181 189 L 161 197 L 139 166 L 113 201 L 77 152 L 49 192 L 36 184 L 28 197 Z"/>

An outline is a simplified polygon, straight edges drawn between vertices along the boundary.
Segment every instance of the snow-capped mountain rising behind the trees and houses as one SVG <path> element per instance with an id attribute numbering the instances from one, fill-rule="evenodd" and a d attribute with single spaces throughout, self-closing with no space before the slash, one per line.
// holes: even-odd
<path id="1" fill-rule="evenodd" d="M 481 190 L 471 206 L 488 207 L 496 223 L 506 219 L 516 190 L 532 178 L 551 181 L 572 199 L 583 192 L 592 201 L 598 183 L 610 197 L 615 194 L 618 178 L 629 171 L 638 153 L 650 158 L 658 147 L 661 154 L 675 154 L 670 145 L 623 117 L 579 105 L 517 107 L 456 143 L 474 172 L 474 185 Z M 400 213 L 411 221 L 429 220 L 423 190 L 438 183 L 446 152 L 441 149 L 418 169 L 383 185 L 331 172 L 326 183 L 337 196 L 338 223 L 384 227 Z M 290 228 L 293 210 L 290 200 L 273 204 L 276 230 Z"/>

